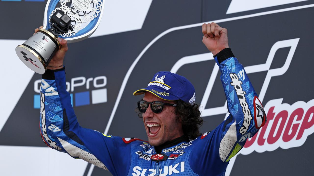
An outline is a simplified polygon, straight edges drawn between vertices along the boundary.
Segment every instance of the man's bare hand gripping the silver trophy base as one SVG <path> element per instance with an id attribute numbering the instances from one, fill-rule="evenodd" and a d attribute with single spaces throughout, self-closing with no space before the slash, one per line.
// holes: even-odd
<path id="1" fill-rule="evenodd" d="M 41 28 L 43 28 L 43 26 L 36 28 L 35 33 L 38 32 L 38 30 Z M 56 69 L 62 68 L 65 53 L 68 51 L 67 40 L 61 39 L 60 37 L 58 37 L 58 40 L 60 42 L 61 48 L 57 50 L 57 52 L 55 53 L 55 55 L 52 57 L 51 61 L 49 62 L 47 69 L 50 69 L 50 70 L 56 70 Z"/>

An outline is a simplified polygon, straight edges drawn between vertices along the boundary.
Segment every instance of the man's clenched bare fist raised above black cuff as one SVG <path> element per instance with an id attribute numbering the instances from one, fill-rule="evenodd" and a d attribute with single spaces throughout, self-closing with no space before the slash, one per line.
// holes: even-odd
<path id="1" fill-rule="evenodd" d="M 229 48 L 226 28 L 221 28 L 216 23 L 204 23 L 202 32 L 204 34 L 203 43 L 213 55 L 225 48 Z"/>

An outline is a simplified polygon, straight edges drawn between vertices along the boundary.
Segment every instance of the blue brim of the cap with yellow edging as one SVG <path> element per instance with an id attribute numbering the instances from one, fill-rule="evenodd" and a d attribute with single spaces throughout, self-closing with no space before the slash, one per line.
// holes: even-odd
<path id="1" fill-rule="evenodd" d="M 152 94 L 154 94 L 155 96 L 163 99 L 163 100 L 168 100 L 168 101 L 175 101 L 175 100 L 179 100 L 178 97 L 172 95 L 169 92 L 166 92 L 164 89 L 159 89 L 157 87 L 150 87 L 150 88 L 143 88 L 143 89 L 138 89 L 137 91 L 135 91 L 133 93 L 133 95 L 142 95 L 145 92 L 150 92 Z"/>

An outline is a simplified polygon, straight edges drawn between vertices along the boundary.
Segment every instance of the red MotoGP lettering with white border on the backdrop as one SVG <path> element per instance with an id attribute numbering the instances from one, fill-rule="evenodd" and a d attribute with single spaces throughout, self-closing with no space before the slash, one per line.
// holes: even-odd
<path id="1" fill-rule="evenodd" d="M 314 132 L 314 99 L 307 103 L 297 101 L 292 105 L 282 103 L 283 100 L 268 101 L 265 106 L 268 122 L 246 141 L 241 154 L 299 147 Z"/>

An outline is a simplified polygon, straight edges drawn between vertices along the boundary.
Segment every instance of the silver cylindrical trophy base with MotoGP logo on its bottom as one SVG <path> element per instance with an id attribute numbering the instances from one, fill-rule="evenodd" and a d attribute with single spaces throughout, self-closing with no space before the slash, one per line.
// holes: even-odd
<path id="1" fill-rule="evenodd" d="M 31 70 L 43 74 L 60 43 L 51 32 L 40 29 L 30 39 L 15 48 L 19 59 Z"/>

